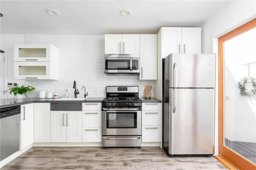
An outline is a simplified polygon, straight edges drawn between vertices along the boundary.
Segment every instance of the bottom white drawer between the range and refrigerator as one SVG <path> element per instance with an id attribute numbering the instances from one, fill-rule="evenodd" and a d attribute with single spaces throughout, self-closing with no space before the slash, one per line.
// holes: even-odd
<path id="1" fill-rule="evenodd" d="M 161 126 L 142 126 L 142 142 L 160 142 Z"/>

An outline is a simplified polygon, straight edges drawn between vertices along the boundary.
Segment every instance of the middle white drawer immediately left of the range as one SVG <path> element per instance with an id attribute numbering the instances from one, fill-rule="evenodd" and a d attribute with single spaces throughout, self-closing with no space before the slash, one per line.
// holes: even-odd
<path id="1" fill-rule="evenodd" d="M 83 127 L 101 127 L 101 111 L 83 111 Z"/>

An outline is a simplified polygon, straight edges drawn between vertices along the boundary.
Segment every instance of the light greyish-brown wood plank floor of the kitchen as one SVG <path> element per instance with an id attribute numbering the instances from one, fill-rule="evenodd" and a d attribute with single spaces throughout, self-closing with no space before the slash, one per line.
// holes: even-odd
<path id="1" fill-rule="evenodd" d="M 12 169 L 227 169 L 214 157 L 170 157 L 160 147 L 33 147 L 2 167 Z"/>

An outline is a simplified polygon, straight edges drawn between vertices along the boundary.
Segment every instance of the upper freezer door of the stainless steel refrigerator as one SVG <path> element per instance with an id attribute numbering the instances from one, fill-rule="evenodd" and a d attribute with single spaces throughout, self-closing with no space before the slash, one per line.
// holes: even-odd
<path id="1" fill-rule="evenodd" d="M 169 87 L 214 88 L 215 54 L 170 54 Z"/>

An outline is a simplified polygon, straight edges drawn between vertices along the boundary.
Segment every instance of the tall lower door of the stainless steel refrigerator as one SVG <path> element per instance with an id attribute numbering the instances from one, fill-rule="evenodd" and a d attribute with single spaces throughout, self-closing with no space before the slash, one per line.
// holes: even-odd
<path id="1" fill-rule="evenodd" d="M 169 154 L 214 154 L 214 89 L 170 88 Z"/>

